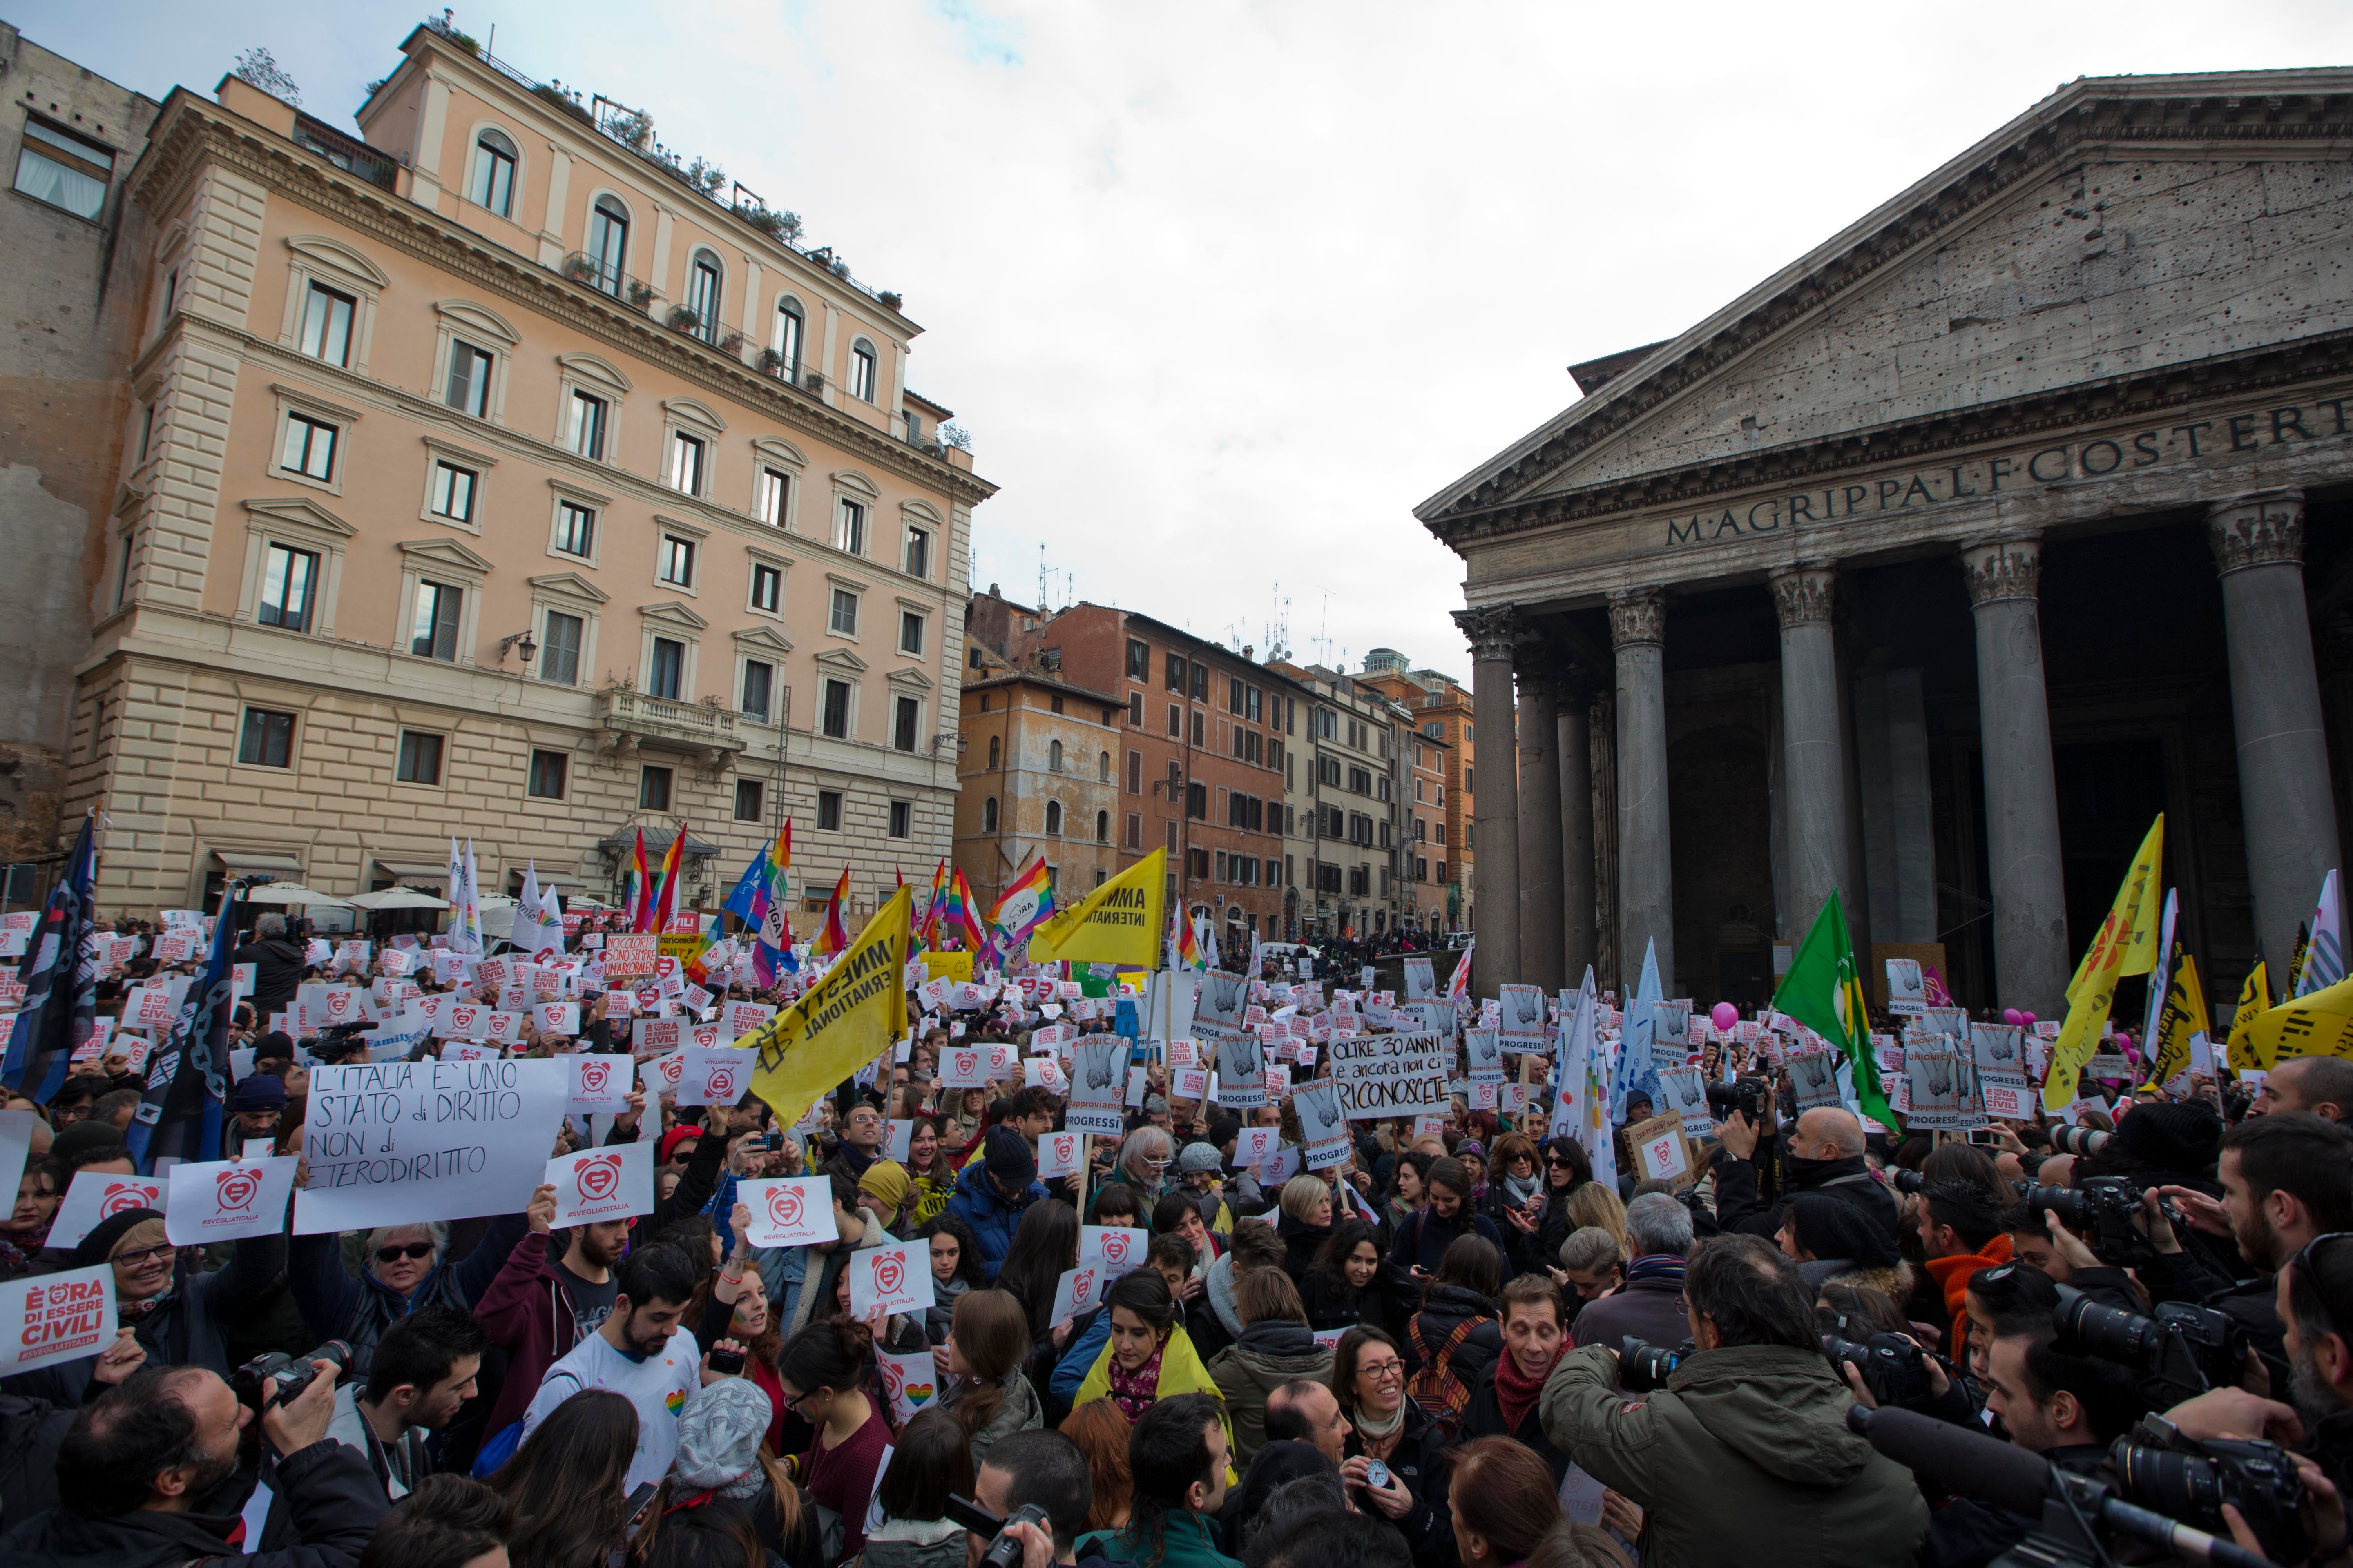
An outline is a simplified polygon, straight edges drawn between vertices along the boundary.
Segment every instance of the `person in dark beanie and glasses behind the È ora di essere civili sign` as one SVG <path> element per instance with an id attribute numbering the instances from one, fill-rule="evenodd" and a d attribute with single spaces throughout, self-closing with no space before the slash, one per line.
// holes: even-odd
<path id="1" fill-rule="evenodd" d="M 181 1253 L 165 1237 L 160 1208 L 122 1208 L 89 1227 L 89 1234 L 64 1255 L 64 1267 L 113 1265 L 115 1324 L 132 1331 L 151 1363 L 202 1366 L 228 1378 L 224 1324 L 278 1279 L 285 1269 L 287 1239 L 268 1234 L 235 1241 L 228 1265 L 219 1269 L 200 1272 L 191 1265 L 195 1258 L 200 1253 Z M 111 1363 L 61 1361 L 5 1378 L 0 1387 L 78 1406 L 94 1378 L 118 1382 L 134 1366 L 136 1359 L 115 1373 Z"/>

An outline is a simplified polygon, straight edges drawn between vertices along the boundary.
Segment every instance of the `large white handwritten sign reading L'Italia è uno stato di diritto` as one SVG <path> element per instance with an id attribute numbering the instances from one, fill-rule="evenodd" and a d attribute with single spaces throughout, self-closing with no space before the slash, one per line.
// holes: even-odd
<path id="1" fill-rule="evenodd" d="M 294 1234 L 515 1213 L 569 1098 L 558 1060 L 313 1067 Z"/>

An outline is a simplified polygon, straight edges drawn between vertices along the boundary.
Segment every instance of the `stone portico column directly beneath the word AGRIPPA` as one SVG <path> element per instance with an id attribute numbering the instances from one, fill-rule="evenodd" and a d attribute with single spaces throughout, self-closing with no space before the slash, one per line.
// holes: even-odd
<path id="1" fill-rule="evenodd" d="M 1805 940 L 1847 867 L 1847 764 L 1840 745 L 1831 567 L 1772 574 L 1781 618 L 1781 778 L 1788 799 L 1788 936 Z"/>

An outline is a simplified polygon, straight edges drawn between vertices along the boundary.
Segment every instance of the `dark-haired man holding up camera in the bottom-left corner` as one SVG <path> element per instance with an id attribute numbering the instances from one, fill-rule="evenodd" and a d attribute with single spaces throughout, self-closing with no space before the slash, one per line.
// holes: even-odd
<path id="1" fill-rule="evenodd" d="M 179 1568 L 231 1559 L 252 1568 L 348 1568 L 386 1512 L 367 1462 L 327 1436 L 332 1361 L 292 1401 L 261 1389 L 271 1488 L 292 1544 L 242 1552 L 242 1497 L 226 1488 L 254 1408 L 202 1366 L 141 1368 L 82 1406 L 56 1455 L 59 1505 L 0 1535 L 0 1561 L 42 1568 Z M 221 1509 L 221 1512 L 209 1512 Z"/>

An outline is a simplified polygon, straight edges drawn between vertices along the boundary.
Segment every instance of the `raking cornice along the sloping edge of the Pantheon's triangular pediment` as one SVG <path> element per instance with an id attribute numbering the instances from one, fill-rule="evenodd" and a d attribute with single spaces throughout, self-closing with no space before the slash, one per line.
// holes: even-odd
<path id="1" fill-rule="evenodd" d="M 1515 494 L 1527 484 L 1628 430 L 1697 381 L 1875 277 L 1889 261 L 1939 242 L 1988 202 L 2064 167 L 2089 146 L 2195 143 L 2247 158 L 2261 143 L 2329 148 L 2353 136 L 2353 75 L 2344 71 L 2235 75 L 2238 80 L 2228 73 L 2177 80 L 2108 78 L 2061 87 L 1805 261 L 1680 334 L 1642 364 L 1628 367 L 1595 397 L 1572 404 L 1551 428 L 1525 437 L 1492 465 L 1424 501 L 1414 515 L 1457 548 L 1475 536 L 1515 531 L 1492 522 L 1497 515 L 1520 510 Z M 2162 378 L 2181 374 L 2181 367 L 2158 371 Z M 1751 458 L 1744 456 L 1746 461 Z"/>

